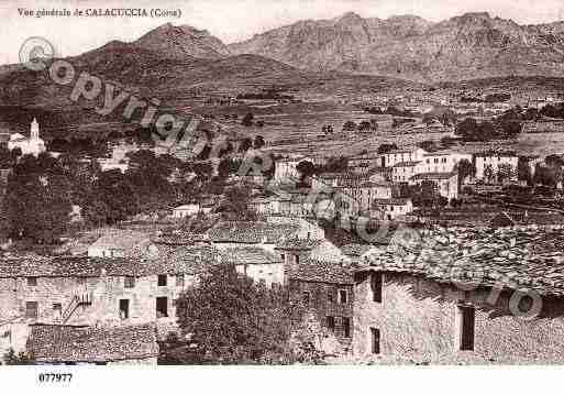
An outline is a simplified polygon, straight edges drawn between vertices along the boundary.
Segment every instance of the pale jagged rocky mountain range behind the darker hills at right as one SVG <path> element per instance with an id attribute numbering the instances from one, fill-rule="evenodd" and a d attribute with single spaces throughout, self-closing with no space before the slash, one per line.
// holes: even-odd
<path id="1" fill-rule="evenodd" d="M 488 13 L 439 23 L 346 13 L 300 21 L 229 45 L 310 69 L 395 76 L 421 81 L 511 75 L 564 76 L 564 22 L 519 25 Z"/>

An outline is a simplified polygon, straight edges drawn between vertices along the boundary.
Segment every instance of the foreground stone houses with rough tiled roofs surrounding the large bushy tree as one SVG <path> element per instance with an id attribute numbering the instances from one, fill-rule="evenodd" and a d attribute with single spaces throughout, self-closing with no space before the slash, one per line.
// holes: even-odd
<path id="1" fill-rule="evenodd" d="M 335 245 L 303 218 L 202 234 L 111 230 L 87 252 L 2 257 L 0 348 L 38 363 L 155 363 L 175 301 L 210 266 L 287 285 L 316 347 L 355 361 L 561 361 L 564 227 L 398 229 Z"/>

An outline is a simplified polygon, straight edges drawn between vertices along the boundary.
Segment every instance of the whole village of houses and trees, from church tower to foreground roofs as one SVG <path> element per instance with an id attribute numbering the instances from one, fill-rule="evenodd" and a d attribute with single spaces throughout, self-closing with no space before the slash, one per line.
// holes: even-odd
<path id="1" fill-rule="evenodd" d="M 192 123 L 204 132 L 211 122 Z M 29 138 L 9 136 L 8 361 L 165 363 L 170 339 L 189 339 L 179 300 L 230 266 L 288 290 L 308 317 L 300 347 L 323 363 L 562 362 L 557 152 L 466 153 L 431 141 L 321 157 L 281 154 L 261 135 L 213 144 L 193 155 L 121 141 L 109 157 L 77 160 L 49 152 L 35 118 Z M 30 185 L 57 218 L 27 218 Z"/>

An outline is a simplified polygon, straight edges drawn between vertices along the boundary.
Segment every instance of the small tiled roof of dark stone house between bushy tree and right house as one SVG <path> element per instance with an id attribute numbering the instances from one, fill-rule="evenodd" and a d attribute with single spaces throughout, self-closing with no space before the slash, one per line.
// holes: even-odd
<path id="1" fill-rule="evenodd" d="M 287 270 L 289 279 L 329 283 L 353 284 L 354 266 L 349 263 L 322 262 L 316 260 L 302 260 L 299 265 Z"/>

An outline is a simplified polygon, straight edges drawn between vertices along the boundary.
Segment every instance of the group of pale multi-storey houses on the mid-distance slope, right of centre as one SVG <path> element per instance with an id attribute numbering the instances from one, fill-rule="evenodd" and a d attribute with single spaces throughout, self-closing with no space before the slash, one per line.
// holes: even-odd
<path id="1" fill-rule="evenodd" d="M 305 191 L 281 187 L 303 178 L 298 165 L 306 161 L 312 162 L 299 155 L 277 161 L 274 179 L 284 193 L 256 196 L 251 201 L 252 208 L 268 216 L 313 218 L 319 217 L 313 208 L 327 198 L 331 200 L 328 205 L 334 205 L 333 211 L 342 216 L 397 220 L 414 209 L 412 196 L 406 194 L 402 186 L 431 184 L 438 195 L 451 202 L 458 199 L 461 185 L 471 180 L 497 180 L 497 174 L 504 166 L 508 168 L 507 179 L 517 180 L 519 157 L 516 153 L 498 151 L 463 154 L 422 149 L 390 150 L 349 158 L 347 172 L 316 174 L 311 176 L 311 187 Z M 475 173 L 458 179 L 462 161 L 467 161 Z M 531 173 L 535 164 L 534 161 L 529 162 Z"/>

